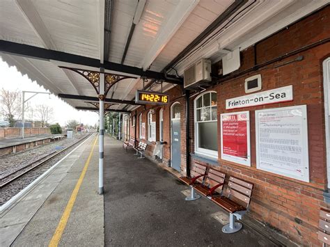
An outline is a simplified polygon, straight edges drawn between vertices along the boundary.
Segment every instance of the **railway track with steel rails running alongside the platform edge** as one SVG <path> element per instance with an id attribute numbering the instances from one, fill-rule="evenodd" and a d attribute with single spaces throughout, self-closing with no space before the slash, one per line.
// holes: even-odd
<path id="1" fill-rule="evenodd" d="M 10 173 L 10 174 L 6 175 L 5 177 L 2 177 L 1 178 L 0 189 L 2 189 L 3 187 L 8 186 L 8 184 L 11 184 L 15 180 L 19 179 L 19 177 L 22 177 L 22 176 L 26 175 L 27 173 L 31 172 L 31 170 L 34 170 L 34 169 L 42 166 L 42 164 L 45 164 L 47 161 L 49 161 L 50 159 L 56 157 L 58 154 L 61 154 L 62 152 L 65 152 L 69 148 L 72 148 L 72 146 L 77 145 L 77 143 L 80 143 L 81 141 L 84 141 L 86 138 L 88 138 L 91 135 L 92 134 L 88 134 L 88 135 L 84 136 L 83 138 L 79 139 L 78 141 L 76 141 L 75 143 L 72 143 L 72 145 L 64 148 L 63 150 L 61 150 L 59 152 L 56 152 L 56 151 L 51 152 L 50 154 L 47 154 L 47 155 L 41 157 L 40 159 L 38 159 L 36 161 L 33 161 L 30 164 L 28 164 L 26 166 L 23 166 L 22 168 L 19 168 L 19 169 L 13 171 L 13 173 Z M 28 168 L 28 169 L 24 170 L 26 168 Z M 19 171 L 22 171 L 22 170 L 23 170 L 23 172 L 19 173 Z M 16 175 L 16 173 L 17 173 L 17 175 Z M 14 177 L 12 177 L 12 176 L 14 176 Z M 3 180 L 6 180 L 8 177 L 12 177 L 12 178 L 7 180 L 6 182 L 2 182 Z"/>

